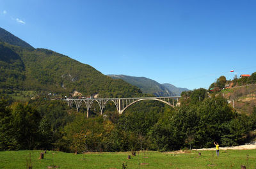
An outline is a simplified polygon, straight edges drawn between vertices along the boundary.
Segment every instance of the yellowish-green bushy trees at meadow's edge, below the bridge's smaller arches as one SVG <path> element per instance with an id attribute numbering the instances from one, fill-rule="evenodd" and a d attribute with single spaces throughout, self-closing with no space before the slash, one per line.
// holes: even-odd
<path id="1" fill-rule="evenodd" d="M 86 119 L 77 116 L 65 127 L 65 139 L 71 144 L 71 151 L 118 151 L 120 139 L 115 125 L 103 121 L 102 117 Z"/>

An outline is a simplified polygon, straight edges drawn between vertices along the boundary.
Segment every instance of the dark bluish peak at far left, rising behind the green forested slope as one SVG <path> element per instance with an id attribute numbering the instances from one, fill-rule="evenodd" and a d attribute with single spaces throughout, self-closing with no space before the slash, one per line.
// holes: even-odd
<path id="1" fill-rule="evenodd" d="M 26 41 L 20 40 L 17 36 L 14 36 L 13 34 L 9 33 L 5 29 L 0 27 L 0 41 L 4 41 L 6 43 L 9 43 L 11 45 L 19 46 L 19 47 L 25 47 L 25 48 L 33 48 L 31 45 L 26 43 Z"/>

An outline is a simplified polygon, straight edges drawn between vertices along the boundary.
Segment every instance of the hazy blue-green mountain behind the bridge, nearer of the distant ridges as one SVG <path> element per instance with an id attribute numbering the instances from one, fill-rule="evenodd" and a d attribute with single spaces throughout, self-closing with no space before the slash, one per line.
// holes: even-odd
<path id="1" fill-rule="evenodd" d="M 172 91 L 168 90 L 164 85 L 145 77 L 130 77 L 126 75 L 108 75 L 112 78 L 120 78 L 125 82 L 135 85 L 141 89 L 143 93 L 154 94 L 155 96 L 175 96 Z"/>

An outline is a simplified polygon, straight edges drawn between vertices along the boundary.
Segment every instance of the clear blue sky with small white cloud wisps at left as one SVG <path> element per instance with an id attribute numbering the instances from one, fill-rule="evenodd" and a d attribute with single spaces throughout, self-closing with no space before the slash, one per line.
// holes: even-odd
<path id="1" fill-rule="evenodd" d="M 256 71 L 255 9 L 254 0 L 0 0 L 0 27 L 104 75 L 197 89 Z"/>

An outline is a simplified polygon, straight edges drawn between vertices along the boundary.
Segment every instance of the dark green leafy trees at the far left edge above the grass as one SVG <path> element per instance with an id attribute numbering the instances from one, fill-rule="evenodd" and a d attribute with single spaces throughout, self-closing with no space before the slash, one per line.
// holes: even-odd
<path id="1" fill-rule="evenodd" d="M 38 124 L 40 114 L 34 108 L 22 103 L 13 103 L 9 108 L 8 103 L 0 101 L 0 149 L 34 149 L 38 147 L 40 132 Z"/>

